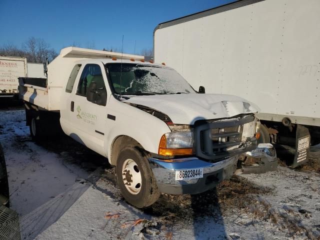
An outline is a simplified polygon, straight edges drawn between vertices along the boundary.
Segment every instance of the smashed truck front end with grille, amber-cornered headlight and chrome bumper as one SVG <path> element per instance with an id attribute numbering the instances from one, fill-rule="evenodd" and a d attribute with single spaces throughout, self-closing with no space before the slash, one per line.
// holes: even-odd
<path id="1" fill-rule="evenodd" d="M 164 134 L 163 144 L 161 138 L 158 154 L 152 154 L 148 159 L 161 192 L 197 194 L 211 189 L 230 178 L 236 170 L 239 157 L 244 161 L 240 161 L 240 165 L 243 165 L 245 173 L 276 169 L 277 158 L 273 146 L 257 145 L 258 119 L 254 114 L 198 120 L 188 127 L 173 124 L 170 129 L 170 133 Z M 186 137 L 182 133 L 192 134 Z M 189 139 L 191 137 L 193 140 Z M 185 155 L 172 153 L 179 151 L 171 149 L 170 145 L 177 147 L 181 142 L 183 147 L 189 147 L 177 148 Z M 250 168 L 250 165 L 253 166 Z"/>

